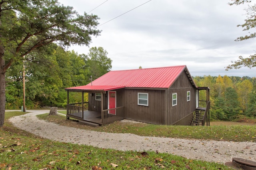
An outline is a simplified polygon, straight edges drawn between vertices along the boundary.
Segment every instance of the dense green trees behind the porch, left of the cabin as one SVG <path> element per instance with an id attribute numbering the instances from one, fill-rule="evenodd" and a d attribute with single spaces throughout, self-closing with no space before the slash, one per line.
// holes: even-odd
<path id="1" fill-rule="evenodd" d="M 102 47 L 92 47 L 88 54 L 65 51 L 52 43 L 44 52 L 32 53 L 26 59 L 26 108 L 65 108 L 67 92 L 64 88 L 86 85 L 107 73 L 112 68 L 112 60 Z M 36 62 L 38 61 L 38 62 Z M 6 72 L 6 109 L 20 109 L 23 105 L 23 66 L 14 63 Z M 76 93 L 70 103 L 81 101 Z"/>

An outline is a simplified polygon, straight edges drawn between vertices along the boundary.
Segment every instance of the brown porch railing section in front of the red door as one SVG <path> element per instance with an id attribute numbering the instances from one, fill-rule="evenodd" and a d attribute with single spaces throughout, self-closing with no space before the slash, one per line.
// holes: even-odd
<path id="1" fill-rule="evenodd" d="M 114 123 L 124 119 L 124 107 L 116 107 L 101 111 L 102 125 Z"/>

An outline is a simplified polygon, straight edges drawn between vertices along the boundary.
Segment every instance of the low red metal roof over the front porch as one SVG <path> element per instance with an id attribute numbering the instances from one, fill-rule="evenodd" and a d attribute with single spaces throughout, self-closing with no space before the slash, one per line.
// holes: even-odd
<path id="1" fill-rule="evenodd" d="M 125 86 L 101 86 L 101 85 L 83 85 L 77 87 L 65 88 L 66 91 L 77 91 L 77 92 L 106 92 L 116 89 L 123 89 Z"/>

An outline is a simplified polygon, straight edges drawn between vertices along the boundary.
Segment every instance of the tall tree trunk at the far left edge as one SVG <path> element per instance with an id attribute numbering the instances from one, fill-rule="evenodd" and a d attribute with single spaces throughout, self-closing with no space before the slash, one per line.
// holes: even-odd
<path id="1" fill-rule="evenodd" d="M 5 100 L 4 49 L 0 45 L 0 127 L 4 126 Z"/>

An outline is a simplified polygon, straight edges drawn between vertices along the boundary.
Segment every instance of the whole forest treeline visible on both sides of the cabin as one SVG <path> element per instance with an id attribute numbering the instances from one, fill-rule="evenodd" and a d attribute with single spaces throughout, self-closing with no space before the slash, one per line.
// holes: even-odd
<path id="1" fill-rule="evenodd" d="M 43 53 L 32 53 L 26 66 L 26 107 L 61 107 L 67 104 L 66 87 L 86 85 L 107 73 L 112 60 L 102 47 L 92 47 L 88 54 L 65 51 L 52 43 Z M 38 61 L 38 62 L 36 62 Z M 17 61 L 18 62 L 18 61 Z M 39 64 L 40 63 L 40 64 Z M 13 64 L 6 72 L 6 109 L 20 109 L 23 103 L 23 67 Z M 236 76 L 195 76 L 198 87 L 210 87 L 210 118 L 230 121 L 242 116 L 256 117 L 256 78 Z M 70 103 L 80 102 L 72 93 Z M 202 96 L 202 98 L 201 98 Z M 205 97 L 200 94 L 200 99 Z"/>

